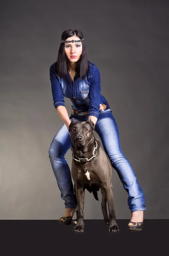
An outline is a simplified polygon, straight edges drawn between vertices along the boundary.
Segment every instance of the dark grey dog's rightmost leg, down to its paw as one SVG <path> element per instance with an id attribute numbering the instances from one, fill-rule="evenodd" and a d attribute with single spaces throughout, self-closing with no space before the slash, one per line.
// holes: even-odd
<path id="1" fill-rule="evenodd" d="M 118 226 L 116 222 L 115 208 L 113 203 L 112 183 L 109 186 L 103 188 L 106 194 L 106 199 L 109 207 L 109 232 L 118 232 Z"/>

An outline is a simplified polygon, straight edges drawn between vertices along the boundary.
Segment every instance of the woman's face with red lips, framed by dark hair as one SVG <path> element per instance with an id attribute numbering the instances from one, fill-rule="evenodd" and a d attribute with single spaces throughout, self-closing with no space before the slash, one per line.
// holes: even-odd
<path id="1" fill-rule="evenodd" d="M 71 40 L 80 40 L 80 38 L 78 38 L 76 35 L 73 35 L 69 38 L 66 39 L 71 41 Z M 82 42 L 79 42 L 79 43 L 65 43 L 65 53 L 66 53 L 66 56 L 68 58 L 68 60 L 71 62 L 71 63 L 74 63 L 76 61 L 78 61 L 80 59 L 80 55 L 82 53 Z M 76 56 L 74 58 L 72 58 L 71 56 Z"/>

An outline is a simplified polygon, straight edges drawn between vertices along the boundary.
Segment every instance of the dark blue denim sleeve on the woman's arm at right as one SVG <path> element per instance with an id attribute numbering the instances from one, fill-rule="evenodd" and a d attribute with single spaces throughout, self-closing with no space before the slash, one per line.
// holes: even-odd
<path id="1" fill-rule="evenodd" d="M 100 71 L 95 67 L 90 80 L 89 90 L 89 116 L 99 116 L 99 104 L 100 104 Z"/>

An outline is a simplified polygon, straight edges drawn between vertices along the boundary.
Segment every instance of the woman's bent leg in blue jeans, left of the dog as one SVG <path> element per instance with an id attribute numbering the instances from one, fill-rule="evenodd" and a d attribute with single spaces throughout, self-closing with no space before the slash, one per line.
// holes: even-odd
<path id="1" fill-rule="evenodd" d="M 77 198 L 74 195 L 71 172 L 65 160 L 65 154 L 69 148 L 71 148 L 71 139 L 64 124 L 52 140 L 49 158 L 61 192 L 61 198 L 65 201 L 65 208 L 75 208 L 77 207 Z"/>

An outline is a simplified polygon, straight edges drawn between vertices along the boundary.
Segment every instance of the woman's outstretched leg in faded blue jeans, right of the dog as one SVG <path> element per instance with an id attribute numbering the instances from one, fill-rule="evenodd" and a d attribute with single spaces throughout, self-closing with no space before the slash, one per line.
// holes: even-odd
<path id="1" fill-rule="evenodd" d="M 137 211 L 146 209 L 143 190 L 137 181 L 129 160 L 121 150 L 117 123 L 111 111 L 99 115 L 95 131 L 102 141 L 103 148 L 109 156 L 112 167 L 117 171 L 124 189 L 129 194 L 128 205 L 130 211 L 135 212 L 135 215 L 138 216 Z M 136 221 L 134 217 L 133 221 Z"/>

